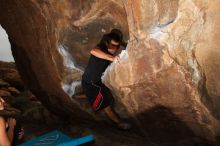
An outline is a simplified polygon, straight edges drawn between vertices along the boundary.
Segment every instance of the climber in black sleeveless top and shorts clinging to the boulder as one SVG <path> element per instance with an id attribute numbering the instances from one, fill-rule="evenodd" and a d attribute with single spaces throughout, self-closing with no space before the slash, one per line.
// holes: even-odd
<path id="1" fill-rule="evenodd" d="M 104 110 L 106 115 L 113 121 L 119 129 L 128 130 L 131 124 L 124 122 L 112 108 L 113 96 L 110 90 L 102 83 L 101 76 L 108 65 L 113 61 L 118 61 L 119 57 L 114 56 L 120 48 L 121 36 L 111 32 L 105 35 L 105 41 L 93 48 L 90 53 L 88 65 L 82 76 L 82 88 L 92 105 L 93 110 Z"/>

